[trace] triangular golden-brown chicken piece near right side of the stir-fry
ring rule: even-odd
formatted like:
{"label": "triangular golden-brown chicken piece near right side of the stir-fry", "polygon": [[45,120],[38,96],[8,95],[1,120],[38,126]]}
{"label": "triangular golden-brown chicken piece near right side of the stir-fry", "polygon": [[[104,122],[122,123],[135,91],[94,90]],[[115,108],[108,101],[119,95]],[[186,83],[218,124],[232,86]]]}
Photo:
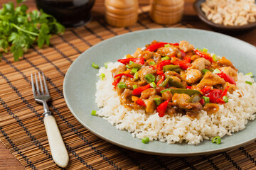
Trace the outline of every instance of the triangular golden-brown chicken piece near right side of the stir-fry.
{"label": "triangular golden-brown chicken piece near right side of the stir-fry", "polygon": [[203,89],[204,86],[215,86],[217,84],[225,84],[225,80],[218,77],[216,74],[213,74],[212,72],[206,72],[200,83],[196,85],[196,88]]}

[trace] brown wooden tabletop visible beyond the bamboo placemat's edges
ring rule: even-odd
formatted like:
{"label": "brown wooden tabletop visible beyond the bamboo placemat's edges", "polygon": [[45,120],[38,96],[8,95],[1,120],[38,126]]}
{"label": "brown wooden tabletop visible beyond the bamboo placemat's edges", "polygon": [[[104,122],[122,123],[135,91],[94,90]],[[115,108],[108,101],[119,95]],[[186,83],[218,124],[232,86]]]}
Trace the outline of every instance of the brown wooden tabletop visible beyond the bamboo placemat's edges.
{"label": "brown wooden tabletop visible beyond the bamboo placemat's edges", "polygon": [[[149,0],[148,0],[149,1]],[[194,0],[186,0],[185,4],[185,12],[184,17],[186,18],[186,23],[191,24],[193,28],[204,29],[204,30],[212,30],[205,23],[202,23],[198,17],[196,16],[195,11],[193,10],[193,1]],[[0,7],[2,4],[7,2],[6,0],[0,0]],[[30,3],[29,3],[30,2]],[[146,0],[140,1],[141,5],[145,5],[147,3]],[[26,2],[29,4],[30,10],[36,8],[31,1]],[[97,3],[96,3],[97,5]],[[102,14],[103,6],[94,6],[92,8],[92,16],[97,13],[97,15]],[[256,29],[247,31],[245,33],[229,33],[229,35],[239,38],[240,40],[244,40],[245,42],[249,42],[252,45],[256,46]],[[9,152],[8,149],[0,142],[0,170],[4,169],[23,169],[23,166],[14,158],[14,156]]]}

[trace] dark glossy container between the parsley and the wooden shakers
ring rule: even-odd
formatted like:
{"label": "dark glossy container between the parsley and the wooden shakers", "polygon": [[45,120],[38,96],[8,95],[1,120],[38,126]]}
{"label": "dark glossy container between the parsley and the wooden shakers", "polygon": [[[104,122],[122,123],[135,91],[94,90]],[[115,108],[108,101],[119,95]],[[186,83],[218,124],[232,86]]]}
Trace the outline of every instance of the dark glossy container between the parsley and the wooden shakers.
{"label": "dark glossy container between the parsley and the wooden shakers", "polygon": [[82,26],[90,21],[95,0],[36,0],[37,8],[53,15],[65,27]]}

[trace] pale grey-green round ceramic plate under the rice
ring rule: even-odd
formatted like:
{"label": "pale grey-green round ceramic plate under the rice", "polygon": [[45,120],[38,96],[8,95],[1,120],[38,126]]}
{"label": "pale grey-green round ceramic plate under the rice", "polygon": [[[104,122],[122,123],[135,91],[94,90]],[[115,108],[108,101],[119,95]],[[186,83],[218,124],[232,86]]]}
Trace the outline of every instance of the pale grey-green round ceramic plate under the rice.
{"label": "pale grey-green round ceramic plate under the rice", "polygon": [[206,47],[210,52],[228,57],[240,72],[256,74],[256,47],[228,35],[188,28],[151,29],[119,35],[102,41],[83,52],[65,75],[63,87],[65,101],[75,118],[85,128],[114,145],[137,152],[166,156],[223,152],[256,139],[255,121],[249,121],[245,130],[234,133],[233,136],[223,137],[221,145],[215,145],[210,141],[203,141],[196,146],[186,143],[168,145],[166,142],[159,141],[145,145],[142,140],[132,137],[129,132],[117,130],[107,120],[91,115],[92,110],[98,110],[95,103],[95,83],[99,79],[96,76],[98,70],[92,68],[92,62],[103,67],[105,62],[115,62],[124,55],[133,53],[137,47],[144,47],[152,40],[165,42],[187,40],[195,47]]}

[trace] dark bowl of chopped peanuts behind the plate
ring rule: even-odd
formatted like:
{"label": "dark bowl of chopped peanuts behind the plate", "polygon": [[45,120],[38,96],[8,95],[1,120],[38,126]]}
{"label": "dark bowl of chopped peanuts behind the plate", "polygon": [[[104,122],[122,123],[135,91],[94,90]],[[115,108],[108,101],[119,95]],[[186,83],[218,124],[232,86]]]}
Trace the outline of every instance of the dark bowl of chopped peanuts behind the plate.
{"label": "dark bowl of chopped peanuts behind the plate", "polygon": [[217,30],[241,31],[256,27],[253,0],[197,0],[193,7],[201,21]]}

